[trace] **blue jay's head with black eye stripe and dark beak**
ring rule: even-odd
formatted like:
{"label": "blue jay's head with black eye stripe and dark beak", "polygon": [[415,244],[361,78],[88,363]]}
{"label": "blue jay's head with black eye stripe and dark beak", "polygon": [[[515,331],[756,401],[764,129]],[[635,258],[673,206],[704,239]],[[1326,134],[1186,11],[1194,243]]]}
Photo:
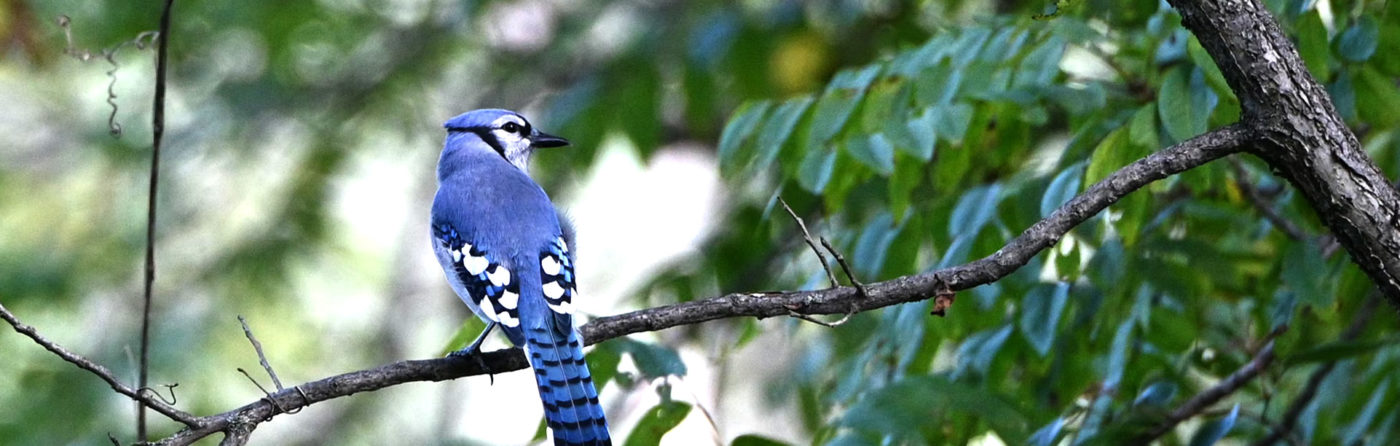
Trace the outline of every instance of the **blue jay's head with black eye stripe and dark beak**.
{"label": "blue jay's head with black eye stripe and dark beak", "polygon": [[525,116],[503,109],[470,110],[449,119],[448,137],[476,134],[496,154],[528,172],[529,155],[536,148],[568,145],[568,140],[536,130]]}

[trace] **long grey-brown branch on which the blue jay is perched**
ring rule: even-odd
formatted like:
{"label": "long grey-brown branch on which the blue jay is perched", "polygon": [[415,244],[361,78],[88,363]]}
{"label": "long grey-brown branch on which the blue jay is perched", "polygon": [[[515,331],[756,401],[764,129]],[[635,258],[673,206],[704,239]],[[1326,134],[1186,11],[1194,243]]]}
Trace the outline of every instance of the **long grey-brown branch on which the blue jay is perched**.
{"label": "long grey-brown branch on which the blue jay is perched", "polygon": [[[958,291],[988,284],[1025,266],[1037,253],[1058,242],[1075,225],[1103,211],[1133,190],[1238,152],[1246,140],[1245,130],[1229,126],[1172,145],[1095,183],[987,257],[918,275],[865,284],[867,295],[864,296],[853,287],[819,291],[738,292],[599,317],[580,327],[580,333],[587,344],[596,344],[633,333],[657,331],[727,317],[752,316],[762,319],[787,316],[790,312],[846,315],[853,308],[855,312],[867,312],[930,299],[939,291]],[[160,440],[158,445],[189,445],[216,432],[245,438],[245,432],[251,432],[258,424],[272,419],[280,411],[295,411],[314,403],[406,382],[440,382],[489,372],[518,371],[526,366],[528,362],[519,348],[486,352],[480,362],[454,357],[393,362],[288,387],[244,407],[199,418],[196,425]]]}

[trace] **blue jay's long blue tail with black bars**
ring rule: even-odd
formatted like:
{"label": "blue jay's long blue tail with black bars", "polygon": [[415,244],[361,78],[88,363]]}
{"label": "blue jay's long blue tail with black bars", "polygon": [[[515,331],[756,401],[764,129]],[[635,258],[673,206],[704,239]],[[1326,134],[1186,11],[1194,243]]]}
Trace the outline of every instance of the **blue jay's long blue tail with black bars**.
{"label": "blue jay's long blue tail with black bars", "polygon": [[612,445],[578,333],[571,329],[552,330],[547,324],[524,331],[525,352],[535,369],[535,383],[545,403],[545,421],[554,432],[554,445]]}

